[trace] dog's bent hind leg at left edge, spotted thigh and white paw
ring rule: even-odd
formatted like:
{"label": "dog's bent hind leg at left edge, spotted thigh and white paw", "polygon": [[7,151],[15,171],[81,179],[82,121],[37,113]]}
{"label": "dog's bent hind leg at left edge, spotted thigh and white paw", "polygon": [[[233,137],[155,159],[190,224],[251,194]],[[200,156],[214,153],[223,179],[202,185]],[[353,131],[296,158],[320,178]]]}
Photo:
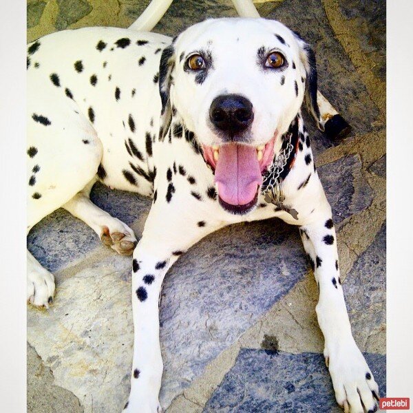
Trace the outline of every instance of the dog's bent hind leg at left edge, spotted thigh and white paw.
{"label": "dog's bent hind leg at left edge, spotted thigh and white paw", "polygon": [[[28,232],[87,186],[96,176],[103,152],[94,127],[72,100],[47,94],[43,86],[28,85],[34,89],[27,105]],[[53,275],[30,253],[27,277],[28,301],[48,306],[54,293]]]}

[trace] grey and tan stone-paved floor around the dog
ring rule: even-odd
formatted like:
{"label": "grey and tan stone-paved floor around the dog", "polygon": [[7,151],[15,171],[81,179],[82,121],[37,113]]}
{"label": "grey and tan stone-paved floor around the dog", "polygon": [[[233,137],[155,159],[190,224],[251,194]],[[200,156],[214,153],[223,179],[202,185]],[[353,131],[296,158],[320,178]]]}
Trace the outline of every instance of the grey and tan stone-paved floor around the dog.
{"label": "grey and tan stone-paved floor around the dog", "polygon": [[[136,0],[28,1],[28,40],[87,25],[127,27]],[[337,224],[354,337],[385,394],[385,3],[257,3],[312,43],[319,88],[352,126],[331,142],[316,131],[315,161]],[[156,31],[176,34],[204,17],[235,16],[229,0],[175,0]],[[96,185],[92,199],[140,234],[150,201]],[[56,275],[50,310],[28,308],[28,411],[119,412],[129,392],[131,259],[100,244],[65,211],[28,237]],[[165,279],[160,310],[168,413],[337,412],[317,286],[296,229],[239,224],[195,245]]]}

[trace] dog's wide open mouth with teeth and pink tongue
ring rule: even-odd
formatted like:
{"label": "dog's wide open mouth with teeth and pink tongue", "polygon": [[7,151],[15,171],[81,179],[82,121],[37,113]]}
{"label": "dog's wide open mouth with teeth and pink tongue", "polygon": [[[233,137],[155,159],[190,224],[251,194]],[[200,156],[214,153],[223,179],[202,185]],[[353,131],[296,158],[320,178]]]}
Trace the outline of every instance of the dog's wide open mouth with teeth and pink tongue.
{"label": "dog's wide open mouth with teeth and pink tongue", "polygon": [[274,157],[275,137],[258,147],[238,143],[202,145],[204,158],[215,171],[218,198],[226,211],[244,214],[257,204],[262,173]]}

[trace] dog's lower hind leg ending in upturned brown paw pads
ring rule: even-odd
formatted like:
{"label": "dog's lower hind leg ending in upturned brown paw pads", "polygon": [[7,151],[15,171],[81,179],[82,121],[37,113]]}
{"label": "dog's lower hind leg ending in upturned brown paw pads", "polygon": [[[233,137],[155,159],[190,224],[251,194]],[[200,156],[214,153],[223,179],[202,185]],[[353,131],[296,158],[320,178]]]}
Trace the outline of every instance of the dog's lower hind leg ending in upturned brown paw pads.
{"label": "dog's lower hind leg ending in upturned brown paw pads", "polygon": [[122,255],[131,255],[137,244],[134,231],[118,218],[97,207],[90,199],[90,191],[96,182],[94,178],[86,187],[63,205],[76,218],[81,219],[100,237],[103,244]]}

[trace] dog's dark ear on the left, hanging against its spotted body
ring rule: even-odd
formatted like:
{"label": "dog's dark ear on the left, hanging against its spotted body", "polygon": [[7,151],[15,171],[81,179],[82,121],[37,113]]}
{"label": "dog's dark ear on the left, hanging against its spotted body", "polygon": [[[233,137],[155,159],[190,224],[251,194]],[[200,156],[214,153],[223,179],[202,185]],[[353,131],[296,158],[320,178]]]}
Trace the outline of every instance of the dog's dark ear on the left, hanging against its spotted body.
{"label": "dog's dark ear on the left, hanging against its spotted body", "polygon": [[162,140],[171,125],[172,109],[171,109],[171,82],[172,71],[175,67],[175,49],[172,45],[163,50],[160,56],[159,63],[159,93],[162,103],[162,111],[160,112],[160,131],[159,138]]}

